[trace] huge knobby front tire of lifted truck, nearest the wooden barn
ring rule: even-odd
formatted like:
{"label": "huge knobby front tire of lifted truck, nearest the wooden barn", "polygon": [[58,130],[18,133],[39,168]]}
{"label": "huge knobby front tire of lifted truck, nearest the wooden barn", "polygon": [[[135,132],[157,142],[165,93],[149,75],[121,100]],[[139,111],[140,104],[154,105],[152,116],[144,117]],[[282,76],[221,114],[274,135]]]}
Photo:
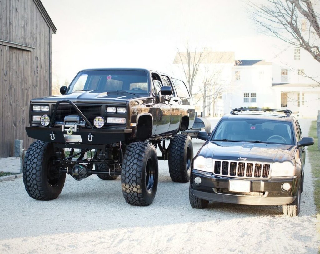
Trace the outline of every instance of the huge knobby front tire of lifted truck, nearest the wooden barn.
{"label": "huge knobby front tire of lifted truck, nearest the wooden barn", "polygon": [[[61,149],[62,156],[64,156]],[[23,164],[23,182],[29,196],[37,200],[57,198],[64,186],[66,173],[59,174],[53,144],[43,141],[33,142],[26,152]]]}

